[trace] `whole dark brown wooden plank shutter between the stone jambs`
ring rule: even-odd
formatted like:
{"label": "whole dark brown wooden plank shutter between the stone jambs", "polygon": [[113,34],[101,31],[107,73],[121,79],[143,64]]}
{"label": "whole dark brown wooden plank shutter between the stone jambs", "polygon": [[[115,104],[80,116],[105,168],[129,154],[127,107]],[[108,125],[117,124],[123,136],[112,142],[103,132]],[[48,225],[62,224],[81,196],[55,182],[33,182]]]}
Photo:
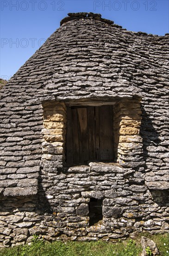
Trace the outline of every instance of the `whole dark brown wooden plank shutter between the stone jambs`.
{"label": "whole dark brown wooden plank shutter between the stone jambs", "polygon": [[113,162],[113,107],[67,108],[67,164]]}

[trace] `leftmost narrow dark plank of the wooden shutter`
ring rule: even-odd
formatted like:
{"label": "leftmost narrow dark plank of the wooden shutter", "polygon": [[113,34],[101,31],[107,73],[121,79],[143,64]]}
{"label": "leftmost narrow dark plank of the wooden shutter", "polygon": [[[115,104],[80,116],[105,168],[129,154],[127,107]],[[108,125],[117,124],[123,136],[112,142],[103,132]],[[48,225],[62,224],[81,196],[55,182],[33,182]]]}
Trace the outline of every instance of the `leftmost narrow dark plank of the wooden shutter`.
{"label": "leftmost narrow dark plank of the wooden shutter", "polygon": [[67,108],[66,162],[73,163],[72,111]]}

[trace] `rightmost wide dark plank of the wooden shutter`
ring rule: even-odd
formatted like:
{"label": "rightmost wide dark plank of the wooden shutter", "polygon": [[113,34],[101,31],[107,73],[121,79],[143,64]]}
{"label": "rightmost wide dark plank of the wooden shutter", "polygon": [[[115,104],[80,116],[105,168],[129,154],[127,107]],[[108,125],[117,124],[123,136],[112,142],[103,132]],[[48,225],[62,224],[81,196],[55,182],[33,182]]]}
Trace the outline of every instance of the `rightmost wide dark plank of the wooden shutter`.
{"label": "rightmost wide dark plank of the wooden shutter", "polygon": [[113,160],[112,106],[99,108],[100,160]]}

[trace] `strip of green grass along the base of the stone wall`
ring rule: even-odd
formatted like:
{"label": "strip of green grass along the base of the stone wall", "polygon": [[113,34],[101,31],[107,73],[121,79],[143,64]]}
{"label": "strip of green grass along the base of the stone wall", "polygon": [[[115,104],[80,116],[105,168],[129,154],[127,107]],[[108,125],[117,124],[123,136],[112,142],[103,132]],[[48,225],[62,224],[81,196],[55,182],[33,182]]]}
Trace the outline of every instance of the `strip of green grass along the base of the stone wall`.
{"label": "strip of green grass along the base of the stone wall", "polygon": [[12,248],[0,249],[0,256],[140,256],[141,235],[152,239],[162,256],[169,256],[169,234],[151,236],[140,234],[135,240],[119,240],[118,243],[98,242],[62,242],[47,243],[34,236],[31,245],[20,245]]}

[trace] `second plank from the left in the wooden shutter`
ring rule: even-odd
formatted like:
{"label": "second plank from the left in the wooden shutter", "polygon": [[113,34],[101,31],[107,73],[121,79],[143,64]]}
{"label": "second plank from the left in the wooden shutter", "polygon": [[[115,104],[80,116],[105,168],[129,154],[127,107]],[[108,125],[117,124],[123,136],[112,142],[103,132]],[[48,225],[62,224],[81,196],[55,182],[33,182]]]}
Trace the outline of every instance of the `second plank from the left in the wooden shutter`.
{"label": "second plank from the left in the wooden shutter", "polygon": [[73,163],[79,164],[79,138],[77,108],[72,108]]}

